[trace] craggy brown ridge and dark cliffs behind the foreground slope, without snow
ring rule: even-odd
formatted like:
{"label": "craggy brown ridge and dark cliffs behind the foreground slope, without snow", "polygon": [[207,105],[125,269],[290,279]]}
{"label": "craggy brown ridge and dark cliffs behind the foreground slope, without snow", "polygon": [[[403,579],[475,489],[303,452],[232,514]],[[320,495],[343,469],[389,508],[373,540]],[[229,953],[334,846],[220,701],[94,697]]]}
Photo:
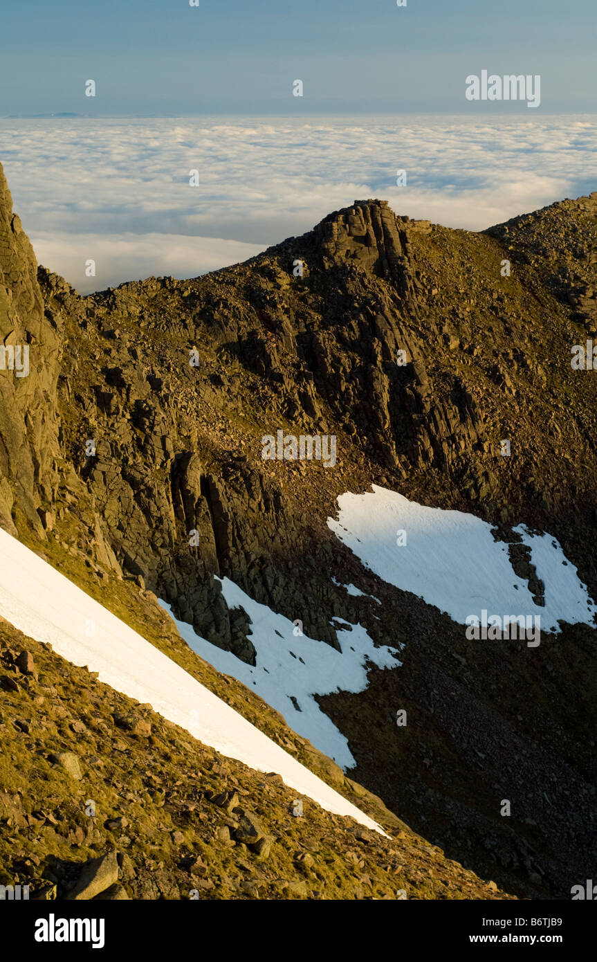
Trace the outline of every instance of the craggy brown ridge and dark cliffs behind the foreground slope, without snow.
{"label": "craggy brown ridge and dark cliffs behind the foreground slope, without snow", "polygon": [[[30,278],[47,350],[26,387],[0,371],[16,392],[0,420],[5,526],[20,512],[39,531],[47,507],[53,539],[99,579],[124,572],[247,662],[248,620],[213,574],[322,643],[338,645],[339,617],[406,644],[401,669],[321,699],[355,776],[453,857],[531,897],[590,877],[594,630],[565,628],[524,663],[501,643],[471,660],[453,621],[363,570],[326,520],[339,494],[376,482],[472,512],[509,543],[524,522],[557,536],[597,595],[597,388],[570,364],[592,331],[596,207],[593,195],[563,201],[472,234],[356,201],[246,264],[88,297],[43,268],[37,288],[25,258],[12,285]],[[7,249],[24,250],[2,222]],[[26,444],[18,418],[37,424]],[[278,430],[335,435],[336,466],[263,460]],[[383,619],[333,576],[368,586]],[[399,742],[396,705],[417,719]],[[508,792],[511,821],[496,801]]]}

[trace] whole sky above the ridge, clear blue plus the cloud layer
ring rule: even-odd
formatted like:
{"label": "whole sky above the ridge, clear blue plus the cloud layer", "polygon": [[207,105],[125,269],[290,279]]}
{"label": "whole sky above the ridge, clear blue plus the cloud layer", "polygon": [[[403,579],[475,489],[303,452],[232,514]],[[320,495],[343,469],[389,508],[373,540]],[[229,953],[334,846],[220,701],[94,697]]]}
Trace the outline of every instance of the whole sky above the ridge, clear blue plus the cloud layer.
{"label": "whole sky above the ridge, clear blue plus the cloud layer", "polygon": [[[595,0],[1,3],[0,163],[82,293],[246,260],[355,199],[482,230],[597,189]],[[538,106],[467,99],[484,70],[540,77]]]}

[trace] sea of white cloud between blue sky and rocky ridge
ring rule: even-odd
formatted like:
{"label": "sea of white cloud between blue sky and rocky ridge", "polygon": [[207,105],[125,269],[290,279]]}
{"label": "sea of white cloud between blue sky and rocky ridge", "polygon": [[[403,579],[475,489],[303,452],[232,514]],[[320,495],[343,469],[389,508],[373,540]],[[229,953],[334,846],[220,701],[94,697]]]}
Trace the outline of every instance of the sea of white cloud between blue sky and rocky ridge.
{"label": "sea of white cloud between blue sky and rocky ridge", "polygon": [[235,264],[356,198],[482,230],[597,189],[597,129],[589,115],[4,119],[0,161],[39,262],[87,292]]}

